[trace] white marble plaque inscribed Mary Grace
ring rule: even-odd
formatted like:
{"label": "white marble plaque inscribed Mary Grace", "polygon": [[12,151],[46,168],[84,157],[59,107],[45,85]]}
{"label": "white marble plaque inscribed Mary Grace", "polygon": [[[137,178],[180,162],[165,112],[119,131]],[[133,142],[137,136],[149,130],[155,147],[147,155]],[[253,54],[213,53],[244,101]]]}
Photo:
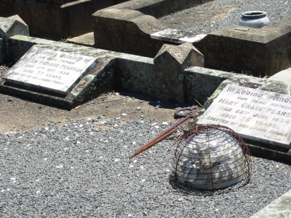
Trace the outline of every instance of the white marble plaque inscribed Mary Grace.
{"label": "white marble plaque inscribed Mary Grace", "polygon": [[289,149],[291,96],[228,84],[197,123],[225,125],[242,138]]}

